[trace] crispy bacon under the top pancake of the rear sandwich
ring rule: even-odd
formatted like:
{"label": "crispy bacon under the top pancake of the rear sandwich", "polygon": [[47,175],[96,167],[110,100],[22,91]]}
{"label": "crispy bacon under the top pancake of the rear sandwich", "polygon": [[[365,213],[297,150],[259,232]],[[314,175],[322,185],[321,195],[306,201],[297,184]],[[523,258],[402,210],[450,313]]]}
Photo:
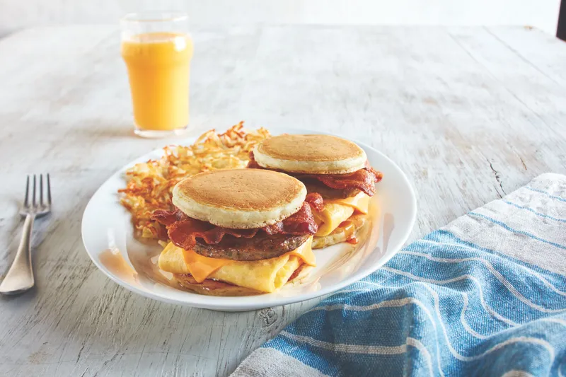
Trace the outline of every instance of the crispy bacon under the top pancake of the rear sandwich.
{"label": "crispy bacon under the top pancake of the rear sandwich", "polygon": [[[248,168],[253,169],[265,169],[255,161],[253,156],[253,151],[250,151],[250,161],[248,162]],[[354,173],[347,174],[304,174],[304,173],[289,173],[294,178],[299,180],[312,178],[323,183],[323,185],[334,189],[350,189],[357,188],[363,191],[366,195],[373,197],[376,193],[375,184],[383,178],[383,173],[375,170],[369,165],[369,161],[366,161],[366,166],[363,169],[354,171]]]}

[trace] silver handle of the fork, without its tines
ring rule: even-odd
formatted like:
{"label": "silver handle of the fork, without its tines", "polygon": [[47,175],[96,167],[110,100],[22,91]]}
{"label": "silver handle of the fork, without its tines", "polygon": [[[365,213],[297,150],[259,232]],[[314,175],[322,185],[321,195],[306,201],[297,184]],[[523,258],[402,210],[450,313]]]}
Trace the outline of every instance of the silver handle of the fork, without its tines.
{"label": "silver handle of the fork, without its tines", "polygon": [[33,230],[34,219],[35,214],[25,216],[18,253],[16,253],[6,277],[0,284],[0,294],[19,294],[27,291],[34,284],[31,267],[31,231]]}

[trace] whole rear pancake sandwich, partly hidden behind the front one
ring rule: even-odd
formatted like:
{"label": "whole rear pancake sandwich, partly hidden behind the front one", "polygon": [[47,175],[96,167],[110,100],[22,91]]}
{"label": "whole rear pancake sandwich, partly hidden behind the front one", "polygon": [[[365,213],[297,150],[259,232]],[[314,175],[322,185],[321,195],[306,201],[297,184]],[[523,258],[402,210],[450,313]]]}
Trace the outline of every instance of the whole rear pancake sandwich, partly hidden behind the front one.
{"label": "whole rear pancake sandwich, partly hidden behind the front one", "polygon": [[318,230],[313,248],[357,243],[369,227],[369,199],[383,175],[369,166],[366,153],[352,141],[331,135],[283,134],[261,141],[250,152],[248,168],[287,173],[306,185],[316,203]]}

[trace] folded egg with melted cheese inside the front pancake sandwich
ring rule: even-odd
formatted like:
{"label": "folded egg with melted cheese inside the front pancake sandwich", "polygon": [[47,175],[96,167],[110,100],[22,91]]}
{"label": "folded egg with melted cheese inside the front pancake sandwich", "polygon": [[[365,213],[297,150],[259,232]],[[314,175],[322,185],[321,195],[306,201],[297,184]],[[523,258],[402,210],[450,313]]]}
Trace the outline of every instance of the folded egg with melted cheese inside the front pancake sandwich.
{"label": "folded egg with melted cheese inside the front pancake sandwich", "polygon": [[304,262],[316,266],[312,250],[313,238],[279,257],[240,261],[204,257],[193,250],[184,250],[169,243],[159,255],[159,268],[173,274],[191,274],[197,282],[216,279],[263,292],[274,292],[287,283],[289,277]]}

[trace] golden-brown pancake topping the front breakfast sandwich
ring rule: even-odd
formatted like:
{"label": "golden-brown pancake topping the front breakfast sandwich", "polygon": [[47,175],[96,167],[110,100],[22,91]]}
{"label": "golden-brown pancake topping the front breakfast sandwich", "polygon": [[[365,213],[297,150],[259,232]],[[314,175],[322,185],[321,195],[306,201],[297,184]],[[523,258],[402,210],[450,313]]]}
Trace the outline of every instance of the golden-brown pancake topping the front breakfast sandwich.
{"label": "golden-brown pancake topping the front breakfast sandwich", "polygon": [[289,175],[261,169],[214,170],[173,188],[173,204],[193,219],[224,228],[272,225],[301,209],[306,187]]}

